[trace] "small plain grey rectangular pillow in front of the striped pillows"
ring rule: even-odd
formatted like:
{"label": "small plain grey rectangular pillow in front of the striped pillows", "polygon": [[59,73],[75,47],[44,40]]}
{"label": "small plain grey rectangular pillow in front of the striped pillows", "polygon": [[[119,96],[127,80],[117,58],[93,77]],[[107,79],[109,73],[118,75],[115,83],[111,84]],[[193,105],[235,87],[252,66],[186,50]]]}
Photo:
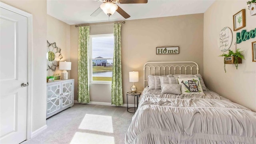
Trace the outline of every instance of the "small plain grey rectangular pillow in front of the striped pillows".
{"label": "small plain grey rectangular pillow in front of the striped pillows", "polygon": [[181,84],[162,84],[163,94],[182,94],[180,91]]}

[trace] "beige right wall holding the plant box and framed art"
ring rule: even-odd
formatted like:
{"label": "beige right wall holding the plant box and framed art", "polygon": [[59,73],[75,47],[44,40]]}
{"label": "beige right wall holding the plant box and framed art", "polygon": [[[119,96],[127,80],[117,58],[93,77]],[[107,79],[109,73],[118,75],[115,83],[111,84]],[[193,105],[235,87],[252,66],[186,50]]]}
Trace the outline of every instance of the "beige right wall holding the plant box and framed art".
{"label": "beige right wall holding the plant box and framed art", "polygon": [[[256,16],[250,16],[246,1],[215,1],[204,13],[204,81],[210,90],[256,111],[256,62],[252,62],[252,38],[237,44],[237,48],[244,50],[245,60],[238,65],[226,64],[224,72],[222,52],[218,48],[220,30],[226,26],[233,32],[232,16],[236,12],[246,9],[246,27],[241,30],[256,28]],[[231,50],[235,50],[236,32],[233,32]]]}

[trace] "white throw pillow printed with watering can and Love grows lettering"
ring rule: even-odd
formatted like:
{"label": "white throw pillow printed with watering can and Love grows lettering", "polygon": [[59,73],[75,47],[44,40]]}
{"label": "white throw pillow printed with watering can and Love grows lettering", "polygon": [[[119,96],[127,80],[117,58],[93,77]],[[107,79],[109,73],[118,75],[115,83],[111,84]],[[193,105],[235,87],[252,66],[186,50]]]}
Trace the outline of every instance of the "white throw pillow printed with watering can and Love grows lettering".
{"label": "white throw pillow printed with watering can and Love grows lettering", "polygon": [[182,94],[205,95],[199,78],[178,78]]}

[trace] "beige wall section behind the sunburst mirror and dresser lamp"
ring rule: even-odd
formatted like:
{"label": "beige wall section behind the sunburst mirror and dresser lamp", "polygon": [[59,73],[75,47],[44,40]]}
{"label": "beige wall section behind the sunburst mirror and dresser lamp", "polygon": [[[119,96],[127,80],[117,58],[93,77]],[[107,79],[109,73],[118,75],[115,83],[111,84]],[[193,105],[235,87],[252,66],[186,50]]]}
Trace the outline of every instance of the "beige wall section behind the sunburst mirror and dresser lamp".
{"label": "beige wall section behind the sunburst mirror and dresser lamp", "polygon": [[[70,61],[70,25],[52,16],[47,15],[47,40],[50,43],[56,42],[56,46],[61,48],[60,53],[63,58],[60,61]],[[50,70],[50,76],[61,74],[62,70],[56,68],[55,72]],[[48,75],[48,74],[47,74]]]}

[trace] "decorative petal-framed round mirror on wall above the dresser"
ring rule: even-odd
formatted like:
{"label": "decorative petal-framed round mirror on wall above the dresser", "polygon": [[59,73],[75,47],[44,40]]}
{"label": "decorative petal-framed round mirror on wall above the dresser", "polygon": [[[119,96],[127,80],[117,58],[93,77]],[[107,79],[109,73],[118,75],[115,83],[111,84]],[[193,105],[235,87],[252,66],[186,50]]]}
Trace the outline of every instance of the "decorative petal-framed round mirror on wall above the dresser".
{"label": "decorative petal-framed round mirror on wall above the dresser", "polygon": [[50,43],[47,40],[47,50],[48,52],[46,53],[46,59],[47,59],[47,71],[50,70],[55,71],[56,67],[58,66],[58,61],[60,61],[63,56],[61,55],[60,51],[61,48],[58,48],[56,46],[56,42]]}

